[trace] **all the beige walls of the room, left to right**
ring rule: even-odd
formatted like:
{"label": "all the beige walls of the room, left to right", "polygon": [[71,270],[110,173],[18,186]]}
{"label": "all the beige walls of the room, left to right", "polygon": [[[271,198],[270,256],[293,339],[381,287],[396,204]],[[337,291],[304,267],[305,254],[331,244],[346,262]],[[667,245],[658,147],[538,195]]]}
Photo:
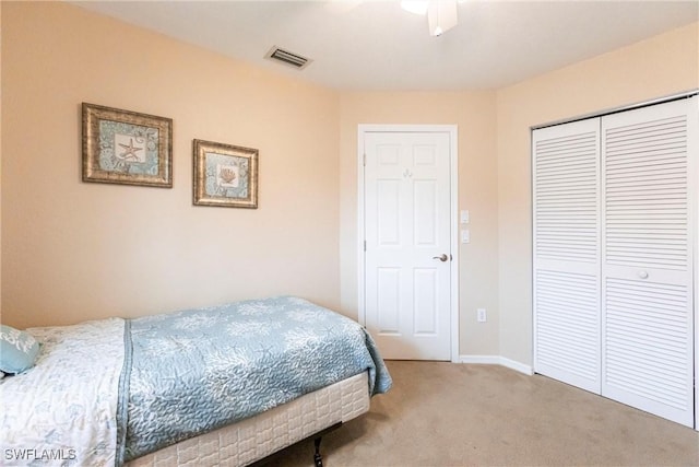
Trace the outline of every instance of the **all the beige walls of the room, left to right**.
{"label": "all the beige walls of the room, left to right", "polygon": [[[530,364],[530,127],[699,87],[698,24],[498,91],[343,93],[64,3],[2,13],[0,306],[19,327],[277,293],[356,317],[357,125],[449,124],[472,219],[460,353]],[[173,118],[174,188],[82,183],[81,102]],[[191,205],[193,138],[260,150],[260,209]]]}

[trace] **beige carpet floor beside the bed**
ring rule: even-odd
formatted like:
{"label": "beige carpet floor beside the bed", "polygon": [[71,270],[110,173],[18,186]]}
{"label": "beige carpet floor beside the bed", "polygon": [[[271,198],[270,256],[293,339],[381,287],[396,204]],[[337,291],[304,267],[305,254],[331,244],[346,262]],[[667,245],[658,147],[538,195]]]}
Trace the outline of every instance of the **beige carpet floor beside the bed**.
{"label": "beige carpet floor beside the bed", "polygon": [[[699,466],[699,432],[501,366],[389,361],[393,388],[325,435],[325,467]],[[274,466],[312,466],[312,441]]]}

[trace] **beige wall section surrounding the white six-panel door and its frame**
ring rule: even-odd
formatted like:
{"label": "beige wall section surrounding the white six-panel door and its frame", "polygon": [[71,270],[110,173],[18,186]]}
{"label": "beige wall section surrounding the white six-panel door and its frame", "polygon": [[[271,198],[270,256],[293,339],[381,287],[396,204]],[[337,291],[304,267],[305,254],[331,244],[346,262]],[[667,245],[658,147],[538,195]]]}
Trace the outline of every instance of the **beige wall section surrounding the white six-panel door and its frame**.
{"label": "beige wall section surrounding the white six-panel door and its frame", "polygon": [[[343,93],[341,97],[341,291],[345,313],[357,310],[357,125],[459,127],[459,209],[471,211],[471,243],[460,248],[460,353],[497,354],[497,159],[495,93]],[[476,308],[488,311],[476,323]]]}

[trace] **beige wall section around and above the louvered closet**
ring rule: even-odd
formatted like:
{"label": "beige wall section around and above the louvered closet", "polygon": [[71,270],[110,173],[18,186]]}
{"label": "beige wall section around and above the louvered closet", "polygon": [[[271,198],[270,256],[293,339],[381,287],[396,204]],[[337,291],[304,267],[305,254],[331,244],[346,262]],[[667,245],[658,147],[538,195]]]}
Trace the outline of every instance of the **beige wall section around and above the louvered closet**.
{"label": "beige wall section around and above the louvered closet", "polygon": [[532,362],[530,127],[699,87],[699,23],[497,93],[502,357]]}

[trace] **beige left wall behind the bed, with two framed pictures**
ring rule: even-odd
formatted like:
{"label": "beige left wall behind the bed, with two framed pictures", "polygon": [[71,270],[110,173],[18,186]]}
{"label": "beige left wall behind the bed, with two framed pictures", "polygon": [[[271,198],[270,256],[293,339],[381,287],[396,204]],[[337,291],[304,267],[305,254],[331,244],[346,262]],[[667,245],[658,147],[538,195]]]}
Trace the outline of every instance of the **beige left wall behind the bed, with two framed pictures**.
{"label": "beige left wall behind the bed, with two framed pictures", "polygon": [[[2,8],[3,323],[339,307],[335,92],[62,2]],[[173,118],[174,188],[82,183],[81,102]],[[194,138],[259,149],[259,209],[192,206]]]}

